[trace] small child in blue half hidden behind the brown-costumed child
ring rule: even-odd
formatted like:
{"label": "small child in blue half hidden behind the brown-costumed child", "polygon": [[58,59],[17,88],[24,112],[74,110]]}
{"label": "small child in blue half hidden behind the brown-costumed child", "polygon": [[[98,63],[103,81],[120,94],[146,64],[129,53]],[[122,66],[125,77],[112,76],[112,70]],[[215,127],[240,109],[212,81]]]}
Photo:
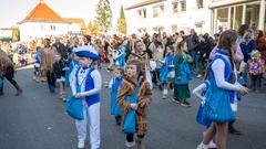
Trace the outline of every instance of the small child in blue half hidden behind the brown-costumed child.
{"label": "small child in blue half hidden behind the brown-costumed child", "polygon": [[110,111],[111,111],[111,115],[115,116],[116,125],[120,126],[121,118],[122,118],[122,110],[121,110],[120,106],[117,105],[117,93],[119,93],[119,88],[123,82],[124,71],[123,71],[123,68],[114,68],[113,73],[114,73],[114,77],[111,79],[111,82],[109,84],[109,88],[111,88]]}

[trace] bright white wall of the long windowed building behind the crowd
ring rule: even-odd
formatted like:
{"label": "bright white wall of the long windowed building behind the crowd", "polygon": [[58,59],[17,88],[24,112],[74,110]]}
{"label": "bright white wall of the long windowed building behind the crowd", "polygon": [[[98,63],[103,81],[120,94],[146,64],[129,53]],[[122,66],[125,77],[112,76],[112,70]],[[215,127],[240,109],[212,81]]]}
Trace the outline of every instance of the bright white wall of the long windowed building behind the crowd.
{"label": "bright white wall of the long windowed building behind the crowd", "polygon": [[[125,11],[127,21],[127,33],[140,33],[139,29],[146,29],[146,32],[152,34],[155,26],[163,26],[164,31],[172,33],[172,25],[177,25],[177,30],[188,31],[190,29],[196,29],[195,23],[203,22],[198,33],[206,33],[211,31],[211,10],[208,9],[208,2],[204,1],[204,9],[196,9],[196,0],[186,1],[186,11],[173,13],[172,0],[158,2],[155,4],[144,6],[136,9]],[[164,3],[164,13],[158,18],[153,18],[153,7]],[[137,10],[146,9],[146,18],[140,18]]]}

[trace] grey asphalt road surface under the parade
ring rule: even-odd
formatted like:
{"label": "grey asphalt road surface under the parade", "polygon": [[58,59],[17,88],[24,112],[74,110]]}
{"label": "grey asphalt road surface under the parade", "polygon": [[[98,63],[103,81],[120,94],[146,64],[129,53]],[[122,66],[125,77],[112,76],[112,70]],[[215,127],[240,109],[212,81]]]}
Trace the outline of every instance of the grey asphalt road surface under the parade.
{"label": "grey asphalt road surface under the parade", "polygon": [[[74,120],[64,111],[59,95],[51,95],[45,83],[32,81],[32,68],[20,70],[16,79],[24,93],[13,96],[14,88],[6,81],[4,96],[0,96],[0,149],[75,149]],[[110,74],[101,70],[104,82]],[[200,84],[191,83],[191,88]],[[101,93],[101,148],[124,149],[124,134],[109,113],[110,91]],[[181,107],[162,92],[153,91],[150,107],[146,149],[195,149],[202,140],[204,127],[196,124],[198,100],[192,97],[191,108]],[[266,92],[249,93],[239,104],[236,128],[243,135],[228,135],[228,149],[266,149]],[[89,141],[88,141],[89,142]],[[89,143],[86,143],[89,149]]]}

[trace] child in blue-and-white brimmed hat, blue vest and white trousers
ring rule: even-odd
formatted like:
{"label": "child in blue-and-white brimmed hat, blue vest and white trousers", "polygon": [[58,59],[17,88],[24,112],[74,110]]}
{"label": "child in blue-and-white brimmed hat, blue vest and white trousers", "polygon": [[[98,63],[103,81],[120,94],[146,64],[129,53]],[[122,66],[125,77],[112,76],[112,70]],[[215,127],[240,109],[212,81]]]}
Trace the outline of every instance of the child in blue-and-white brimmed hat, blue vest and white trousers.
{"label": "child in blue-and-white brimmed hat, blue vest and white trousers", "polygon": [[[79,56],[80,68],[73,77],[71,89],[76,98],[83,98],[83,120],[75,120],[78,129],[78,148],[84,148],[86,139],[86,124],[90,128],[91,149],[100,148],[100,91],[102,77],[92,63],[100,58],[98,52],[92,46],[80,46],[74,50]],[[80,86],[80,93],[76,87]]]}

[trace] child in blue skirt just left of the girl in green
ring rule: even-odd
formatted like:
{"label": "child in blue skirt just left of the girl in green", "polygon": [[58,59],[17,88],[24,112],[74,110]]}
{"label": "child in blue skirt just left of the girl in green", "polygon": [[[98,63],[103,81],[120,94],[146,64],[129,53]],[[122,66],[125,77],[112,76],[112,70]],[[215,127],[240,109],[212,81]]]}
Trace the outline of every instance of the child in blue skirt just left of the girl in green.
{"label": "child in blue skirt just left of the girl in green", "polygon": [[164,66],[161,70],[160,78],[164,85],[163,99],[167,98],[170,83],[173,82],[175,76],[174,71],[174,46],[170,45],[166,47],[166,56],[164,58]]}

